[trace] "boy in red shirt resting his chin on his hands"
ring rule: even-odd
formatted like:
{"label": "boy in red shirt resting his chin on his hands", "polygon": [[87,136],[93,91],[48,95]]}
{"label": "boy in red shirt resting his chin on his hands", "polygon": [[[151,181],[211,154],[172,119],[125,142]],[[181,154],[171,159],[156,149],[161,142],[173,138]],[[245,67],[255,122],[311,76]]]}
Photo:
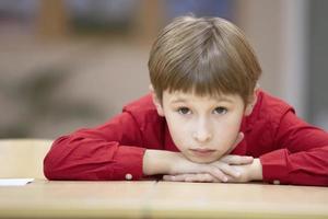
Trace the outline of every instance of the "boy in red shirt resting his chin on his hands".
{"label": "boy in red shirt resting his chin on his hands", "polygon": [[54,142],[46,177],[328,185],[328,134],[257,88],[260,66],[232,23],[174,20],[149,71],[151,94]]}

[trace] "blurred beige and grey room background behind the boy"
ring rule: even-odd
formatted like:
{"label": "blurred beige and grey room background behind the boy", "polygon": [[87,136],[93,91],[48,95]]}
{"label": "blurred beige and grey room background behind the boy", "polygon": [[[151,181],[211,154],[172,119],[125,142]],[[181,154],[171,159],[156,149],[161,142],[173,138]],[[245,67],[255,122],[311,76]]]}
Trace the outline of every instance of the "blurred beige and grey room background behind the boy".
{"label": "blurred beige and grey room background behind the boy", "polygon": [[154,37],[190,12],[244,30],[261,88],[327,130],[327,9],[325,0],[1,0],[0,138],[105,123],[148,92]]}

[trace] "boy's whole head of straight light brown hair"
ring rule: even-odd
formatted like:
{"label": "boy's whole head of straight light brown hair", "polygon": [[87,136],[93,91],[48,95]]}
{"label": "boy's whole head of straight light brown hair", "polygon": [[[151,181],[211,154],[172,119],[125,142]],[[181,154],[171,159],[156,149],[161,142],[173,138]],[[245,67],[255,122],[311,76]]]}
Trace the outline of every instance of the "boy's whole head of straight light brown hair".
{"label": "boy's whole head of straight light brown hair", "polygon": [[261,68],[244,34],[231,22],[180,16],[154,42],[149,71],[160,101],[167,90],[197,95],[238,94],[246,105]]}

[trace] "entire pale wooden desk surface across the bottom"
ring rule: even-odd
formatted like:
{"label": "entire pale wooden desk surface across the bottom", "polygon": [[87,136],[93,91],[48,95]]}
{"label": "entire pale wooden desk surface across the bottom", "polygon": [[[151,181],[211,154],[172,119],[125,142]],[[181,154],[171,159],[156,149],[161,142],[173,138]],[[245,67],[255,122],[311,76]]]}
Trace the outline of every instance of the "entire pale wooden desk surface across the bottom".
{"label": "entire pale wooden desk surface across the bottom", "polygon": [[48,182],[0,187],[0,218],[328,218],[328,188],[265,184]]}

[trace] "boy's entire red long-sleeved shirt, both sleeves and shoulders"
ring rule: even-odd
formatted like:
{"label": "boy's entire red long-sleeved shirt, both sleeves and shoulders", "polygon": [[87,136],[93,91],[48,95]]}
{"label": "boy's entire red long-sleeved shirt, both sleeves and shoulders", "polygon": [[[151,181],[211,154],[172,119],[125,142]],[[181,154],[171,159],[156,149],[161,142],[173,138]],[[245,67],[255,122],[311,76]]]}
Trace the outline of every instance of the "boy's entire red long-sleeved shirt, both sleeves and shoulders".
{"label": "boy's entire red long-sleeved shirt, both sleeves and shoulders", "polygon": [[[300,119],[283,101],[259,91],[241,131],[245,138],[232,153],[259,158],[265,182],[328,185],[327,131]],[[145,149],[178,151],[150,94],[99,127],[58,138],[44,172],[49,180],[140,180]]]}

